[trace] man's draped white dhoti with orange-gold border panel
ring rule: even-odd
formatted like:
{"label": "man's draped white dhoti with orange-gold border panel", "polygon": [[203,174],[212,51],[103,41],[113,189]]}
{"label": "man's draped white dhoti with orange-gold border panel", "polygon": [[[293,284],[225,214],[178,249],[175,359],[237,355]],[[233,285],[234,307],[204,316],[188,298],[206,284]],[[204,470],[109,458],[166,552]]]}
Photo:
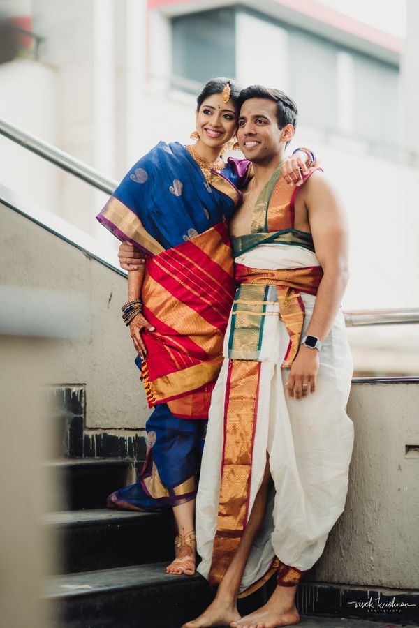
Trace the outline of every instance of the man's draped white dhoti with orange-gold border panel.
{"label": "man's draped white dhoti with orange-gold border panel", "polygon": [[[284,242],[237,253],[236,262],[245,267],[244,276],[286,271],[297,279],[301,269],[319,267],[309,247]],[[304,310],[300,334],[305,334],[316,297],[300,292],[298,298]],[[296,402],[286,394],[289,371],[282,366],[291,341],[287,315],[278,285],[240,285],[212,394],[196,507],[203,558],[198,571],[212,585],[221,581],[240,544],[267,454],[274,481],[242,596],[263,585],[279,565],[310,569],[346,500],[353,425],[346,414],[352,360],[344,319],[337,315],[323,343],[315,394]]]}

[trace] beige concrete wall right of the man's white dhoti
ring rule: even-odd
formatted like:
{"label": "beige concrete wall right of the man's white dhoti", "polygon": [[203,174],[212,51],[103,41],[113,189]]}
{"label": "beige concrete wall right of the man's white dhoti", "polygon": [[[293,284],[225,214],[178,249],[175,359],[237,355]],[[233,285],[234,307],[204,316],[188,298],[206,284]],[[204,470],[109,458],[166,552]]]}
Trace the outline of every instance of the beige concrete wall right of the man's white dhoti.
{"label": "beige concrete wall right of the man's white dhoti", "polygon": [[419,589],[418,403],[418,380],[353,384],[348,500],[311,580]]}

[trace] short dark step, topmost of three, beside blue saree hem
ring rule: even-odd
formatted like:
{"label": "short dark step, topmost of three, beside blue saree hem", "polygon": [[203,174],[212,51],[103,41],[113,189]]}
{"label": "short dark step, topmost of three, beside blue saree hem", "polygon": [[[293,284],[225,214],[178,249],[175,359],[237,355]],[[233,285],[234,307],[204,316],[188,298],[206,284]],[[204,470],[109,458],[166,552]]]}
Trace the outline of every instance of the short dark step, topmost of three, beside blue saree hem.
{"label": "short dark step, topmost of three, beside blue saree hem", "polygon": [[51,461],[47,472],[54,474],[63,493],[59,507],[68,510],[103,508],[106,498],[117,488],[125,486],[130,461],[80,458]]}

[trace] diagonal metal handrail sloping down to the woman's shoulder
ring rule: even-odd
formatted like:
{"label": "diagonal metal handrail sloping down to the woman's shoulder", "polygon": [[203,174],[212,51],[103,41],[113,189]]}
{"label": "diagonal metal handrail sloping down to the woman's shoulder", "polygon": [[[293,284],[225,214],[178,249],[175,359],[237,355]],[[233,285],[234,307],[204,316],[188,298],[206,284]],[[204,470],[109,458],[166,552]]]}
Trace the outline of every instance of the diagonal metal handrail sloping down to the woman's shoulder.
{"label": "diagonal metal handrail sloping down to the woman's shoulder", "polygon": [[6,120],[0,119],[0,133],[1,135],[8,137],[8,139],[12,140],[12,142],[16,142],[17,144],[20,144],[20,146],[32,151],[43,159],[54,163],[62,168],[62,170],[71,172],[71,174],[74,174],[75,177],[86,181],[86,183],[98,188],[98,190],[102,190],[102,192],[112,194],[117,187],[117,181],[112,181],[112,179],[103,177],[102,174],[100,174],[97,170],[94,170],[94,168],[91,168],[82,161],[68,155],[68,153],[60,151],[51,144],[47,144],[47,142],[39,140],[38,137],[26,133],[26,131],[17,128],[17,126],[9,124]]}

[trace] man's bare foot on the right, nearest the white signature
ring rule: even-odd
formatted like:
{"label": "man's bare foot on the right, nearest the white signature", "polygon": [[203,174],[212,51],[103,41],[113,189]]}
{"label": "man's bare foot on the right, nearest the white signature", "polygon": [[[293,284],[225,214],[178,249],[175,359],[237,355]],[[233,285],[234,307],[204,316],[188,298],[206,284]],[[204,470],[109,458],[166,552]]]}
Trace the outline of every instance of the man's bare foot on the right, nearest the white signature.
{"label": "man's bare foot on the right, nearest the white signature", "polygon": [[297,587],[277,587],[267,604],[241,620],[231,622],[231,628],[278,628],[291,626],[300,621],[295,606]]}

